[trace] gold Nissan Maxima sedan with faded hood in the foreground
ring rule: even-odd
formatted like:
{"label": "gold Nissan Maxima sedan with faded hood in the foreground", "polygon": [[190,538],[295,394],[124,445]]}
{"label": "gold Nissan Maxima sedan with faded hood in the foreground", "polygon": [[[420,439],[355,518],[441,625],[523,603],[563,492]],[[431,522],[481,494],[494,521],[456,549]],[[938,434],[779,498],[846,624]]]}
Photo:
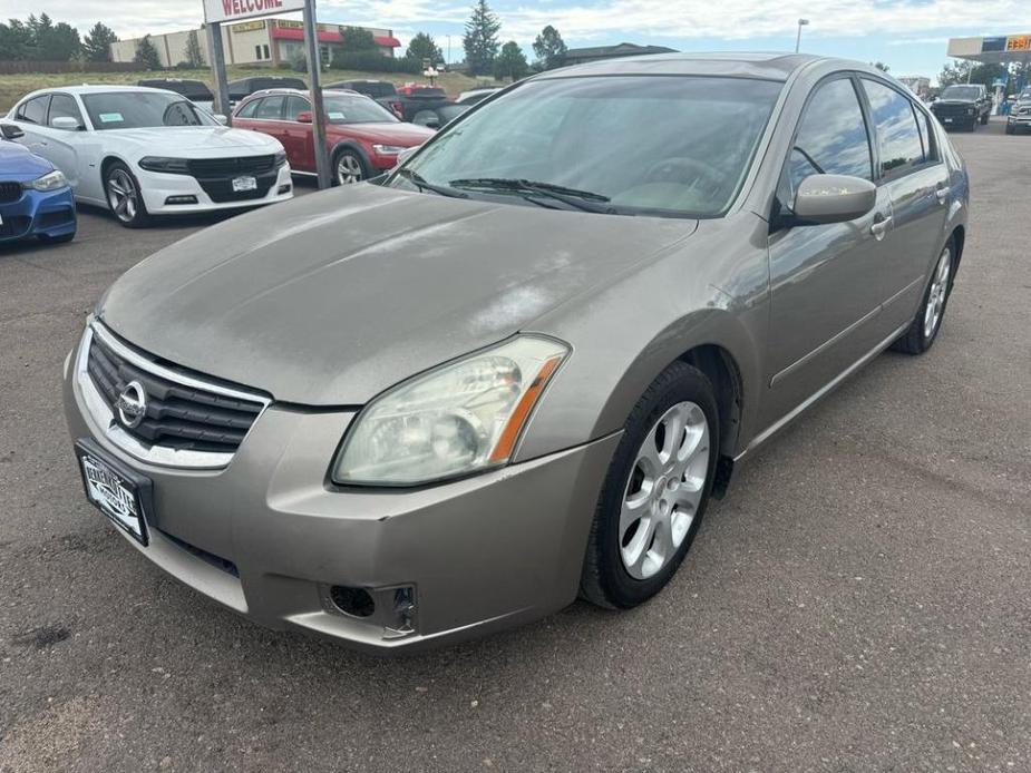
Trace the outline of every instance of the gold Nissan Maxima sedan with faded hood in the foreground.
{"label": "gold Nissan Maxima sedan with faded hood in the foreground", "polygon": [[737,462],[931,348],[967,202],[858,62],[545,72],[119,278],[65,369],[86,496],[200,593],[369,649],[633,607]]}

